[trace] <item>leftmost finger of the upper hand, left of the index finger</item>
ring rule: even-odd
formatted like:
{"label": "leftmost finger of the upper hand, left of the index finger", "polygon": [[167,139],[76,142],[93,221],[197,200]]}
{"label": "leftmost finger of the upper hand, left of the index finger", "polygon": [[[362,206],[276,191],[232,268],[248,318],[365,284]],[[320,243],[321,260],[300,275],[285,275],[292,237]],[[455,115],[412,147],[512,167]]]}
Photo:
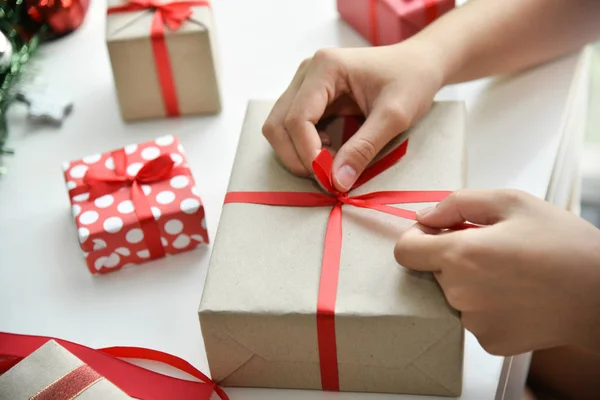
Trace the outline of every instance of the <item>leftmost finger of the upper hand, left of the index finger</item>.
{"label": "leftmost finger of the upper hand, left of the index finger", "polygon": [[310,170],[307,170],[300,161],[300,156],[296,151],[294,142],[290,138],[287,130],[285,129],[284,120],[287,115],[290,105],[292,104],[298,89],[304,81],[306,69],[310,60],[304,60],[294,78],[290,82],[287,89],[279,97],[269,116],[265,120],[262,131],[263,135],[273,147],[273,150],[277,154],[280,161],[295,175],[309,176],[311,175]]}

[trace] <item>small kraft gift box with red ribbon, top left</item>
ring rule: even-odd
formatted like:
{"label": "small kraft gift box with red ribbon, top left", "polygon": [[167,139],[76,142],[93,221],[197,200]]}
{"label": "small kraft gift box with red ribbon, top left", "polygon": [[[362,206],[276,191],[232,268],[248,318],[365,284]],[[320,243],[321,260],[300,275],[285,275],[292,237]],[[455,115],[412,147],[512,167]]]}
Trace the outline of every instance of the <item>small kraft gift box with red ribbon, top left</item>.
{"label": "small kraft gift box with red ribbon, top left", "polygon": [[124,120],[221,110],[209,1],[109,0],[106,43]]}

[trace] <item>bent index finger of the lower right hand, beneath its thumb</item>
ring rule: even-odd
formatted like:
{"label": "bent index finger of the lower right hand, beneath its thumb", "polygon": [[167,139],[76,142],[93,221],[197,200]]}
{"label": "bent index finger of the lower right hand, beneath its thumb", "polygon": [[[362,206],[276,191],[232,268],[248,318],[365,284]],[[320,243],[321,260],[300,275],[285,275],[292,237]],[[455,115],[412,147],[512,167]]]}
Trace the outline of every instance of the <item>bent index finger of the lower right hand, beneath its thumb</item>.
{"label": "bent index finger of the lower right hand, beneath its thumb", "polygon": [[416,271],[440,272],[439,257],[449,246],[446,235],[439,230],[415,224],[406,230],[394,247],[394,257],[398,264]]}

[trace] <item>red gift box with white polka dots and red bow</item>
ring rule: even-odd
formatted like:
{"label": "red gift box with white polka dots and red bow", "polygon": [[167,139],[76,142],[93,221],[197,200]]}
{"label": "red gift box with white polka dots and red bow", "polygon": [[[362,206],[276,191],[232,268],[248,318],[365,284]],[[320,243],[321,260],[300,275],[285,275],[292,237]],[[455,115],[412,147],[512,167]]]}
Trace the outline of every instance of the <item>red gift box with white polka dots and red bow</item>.
{"label": "red gift box with white polka dots and red bow", "polygon": [[63,169],[91,273],[208,243],[204,207],[177,137],[65,162]]}

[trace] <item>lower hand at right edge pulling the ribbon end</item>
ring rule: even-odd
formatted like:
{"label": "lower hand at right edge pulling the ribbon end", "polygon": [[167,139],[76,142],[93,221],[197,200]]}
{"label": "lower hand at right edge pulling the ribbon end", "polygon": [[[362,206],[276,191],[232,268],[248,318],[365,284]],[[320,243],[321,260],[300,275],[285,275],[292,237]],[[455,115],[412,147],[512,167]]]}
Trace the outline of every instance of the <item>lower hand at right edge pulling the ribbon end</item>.
{"label": "lower hand at right edge pulling the ribbon end", "polygon": [[[486,226],[440,231],[464,221]],[[458,191],[418,214],[395,256],[435,274],[492,354],[600,350],[600,230],[567,211],[519,191]]]}

